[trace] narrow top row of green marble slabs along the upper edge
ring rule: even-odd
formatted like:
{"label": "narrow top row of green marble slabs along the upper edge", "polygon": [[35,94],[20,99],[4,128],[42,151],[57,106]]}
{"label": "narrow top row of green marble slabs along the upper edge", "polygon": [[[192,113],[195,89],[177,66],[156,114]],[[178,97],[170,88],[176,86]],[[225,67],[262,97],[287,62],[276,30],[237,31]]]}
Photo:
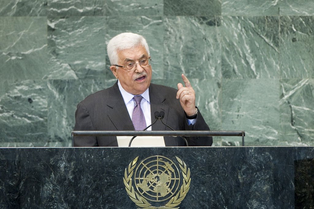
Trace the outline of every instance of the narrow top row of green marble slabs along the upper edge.
{"label": "narrow top row of green marble slabs along the upper edge", "polygon": [[2,0],[0,16],[313,15],[312,0]]}

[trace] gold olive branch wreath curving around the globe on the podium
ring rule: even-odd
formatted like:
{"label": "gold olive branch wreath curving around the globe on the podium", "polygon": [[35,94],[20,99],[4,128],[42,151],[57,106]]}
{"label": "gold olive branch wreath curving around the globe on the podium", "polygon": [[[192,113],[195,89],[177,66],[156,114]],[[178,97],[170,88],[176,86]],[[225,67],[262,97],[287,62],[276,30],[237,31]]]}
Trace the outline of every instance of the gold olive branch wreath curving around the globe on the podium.
{"label": "gold olive branch wreath curving around the globe on the podium", "polygon": [[176,194],[176,196],[173,196],[165,206],[161,207],[154,207],[152,206],[144,197],[141,197],[135,190],[134,187],[132,186],[132,175],[133,175],[133,170],[136,166],[136,162],[138,160],[137,156],[132,162],[130,162],[129,166],[127,169],[124,171],[124,177],[123,177],[123,182],[125,185],[125,190],[127,191],[127,195],[130,197],[130,199],[139,207],[144,208],[144,209],[178,209],[178,206],[181,201],[185,198],[187,195],[187,192],[190,190],[190,184],[191,184],[191,176],[190,176],[190,169],[187,168],[187,165],[185,162],[183,162],[180,158],[176,156],[176,159],[179,163],[180,169],[182,171],[182,176],[183,176],[183,185],[181,186],[180,191]]}

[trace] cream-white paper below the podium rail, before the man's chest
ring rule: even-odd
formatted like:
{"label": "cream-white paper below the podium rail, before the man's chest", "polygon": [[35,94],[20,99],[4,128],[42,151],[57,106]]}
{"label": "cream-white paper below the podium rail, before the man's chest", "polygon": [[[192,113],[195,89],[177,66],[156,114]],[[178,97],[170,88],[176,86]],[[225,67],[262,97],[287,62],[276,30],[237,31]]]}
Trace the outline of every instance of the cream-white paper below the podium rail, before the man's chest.
{"label": "cream-white paper below the podium rail, before the man's chest", "polygon": [[[117,136],[119,147],[128,147],[132,136]],[[163,136],[137,136],[131,147],[165,147]]]}

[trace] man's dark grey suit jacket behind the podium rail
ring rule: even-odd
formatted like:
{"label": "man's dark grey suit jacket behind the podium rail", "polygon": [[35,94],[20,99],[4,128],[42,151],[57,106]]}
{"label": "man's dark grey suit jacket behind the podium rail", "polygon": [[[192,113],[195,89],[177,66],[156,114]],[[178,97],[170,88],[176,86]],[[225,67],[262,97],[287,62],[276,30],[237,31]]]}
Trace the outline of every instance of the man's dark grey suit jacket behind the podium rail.
{"label": "man's dark grey suit jacket behind the podium rail", "polygon": [[[187,124],[185,112],[179,99],[177,90],[171,87],[150,84],[149,99],[152,123],[154,112],[165,112],[164,123],[175,130],[209,130],[201,113],[198,112],[197,122],[193,126]],[[98,91],[78,103],[75,112],[74,130],[116,131],[134,130],[132,120],[118,87],[118,83],[108,89]],[[169,130],[161,121],[157,121],[152,130]],[[179,137],[164,137],[166,146],[185,146]],[[212,137],[187,137],[189,146],[211,146]],[[117,147],[118,142],[113,137],[74,137],[75,147]]]}

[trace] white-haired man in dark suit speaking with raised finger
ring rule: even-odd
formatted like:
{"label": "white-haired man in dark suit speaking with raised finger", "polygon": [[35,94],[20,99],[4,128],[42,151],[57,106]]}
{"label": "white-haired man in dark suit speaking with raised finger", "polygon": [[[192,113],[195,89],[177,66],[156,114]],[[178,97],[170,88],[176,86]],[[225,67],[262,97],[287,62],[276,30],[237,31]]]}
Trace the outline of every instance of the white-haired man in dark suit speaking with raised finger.
{"label": "white-haired man in dark suit speaking with raised finger", "polygon": [[[153,58],[143,36],[122,33],[107,45],[110,70],[117,78],[108,89],[86,97],[77,106],[74,130],[116,131],[143,130],[154,120],[154,112],[165,112],[163,122],[174,130],[209,130],[201,112],[195,106],[195,91],[183,74],[184,86],[178,90],[150,83]],[[147,130],[168,130],[155,123]],[[164,137],[165,146],[185,146],[180,137]],[[189,146],[211,146],[212,137],[187,137]],[[76,137],[74,146],[116,147],[111,137]]]}

